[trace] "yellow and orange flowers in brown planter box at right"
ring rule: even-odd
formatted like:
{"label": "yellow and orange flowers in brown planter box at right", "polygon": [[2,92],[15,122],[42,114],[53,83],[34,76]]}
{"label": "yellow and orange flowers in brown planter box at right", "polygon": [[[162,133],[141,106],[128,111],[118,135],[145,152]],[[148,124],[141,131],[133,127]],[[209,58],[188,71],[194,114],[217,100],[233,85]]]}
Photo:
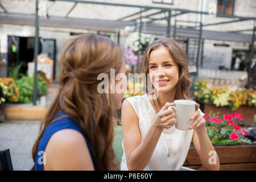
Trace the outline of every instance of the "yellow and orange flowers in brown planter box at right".
{"label": "yellow and orange flowers in brown planter box at right", "polygon": [[203,112],[243,115],[243,122],[253,122],[256,106],[256,91],[245,88],[216,87],[209,88],[204,80],[197,80],[193,85],[193,96],[199,102]]}

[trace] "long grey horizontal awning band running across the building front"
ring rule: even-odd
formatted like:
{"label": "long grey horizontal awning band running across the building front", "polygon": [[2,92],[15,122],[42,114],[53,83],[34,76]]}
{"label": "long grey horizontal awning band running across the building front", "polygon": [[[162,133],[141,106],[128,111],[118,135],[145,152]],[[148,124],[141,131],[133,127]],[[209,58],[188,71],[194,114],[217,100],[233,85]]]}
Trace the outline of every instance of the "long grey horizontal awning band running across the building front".
{"label": "long grey horizontal awning band running across the building front", "polygon": [[[35,26],[35,15],[27,14],[11,14],[0,13],[0,23],[19,24]],[[92,20],[81,18],[66,18],[66,17],[40,17],[40,26],[44,27],[61,27],[61,28],[80,28],[86,30],[98,30],[105,32],[118,32],[120,28],[126,26],[134,26],[134,22],[124,22],[121,20]],[[174,26],[170,26],[174,30]],[[164,25],[147,23],[143,24],[142,32],[146,34],[165,35],[167,28]],[[176,27],[176,36],[183,38],[199,38],[199,31],[192,28]],[[174,34],[171,31],[170,35]],[[222,40],[230,42],[250,43],[253,35],[239,34],[237,32],[221,32],[221,31],[202,31],[201,39]]]}

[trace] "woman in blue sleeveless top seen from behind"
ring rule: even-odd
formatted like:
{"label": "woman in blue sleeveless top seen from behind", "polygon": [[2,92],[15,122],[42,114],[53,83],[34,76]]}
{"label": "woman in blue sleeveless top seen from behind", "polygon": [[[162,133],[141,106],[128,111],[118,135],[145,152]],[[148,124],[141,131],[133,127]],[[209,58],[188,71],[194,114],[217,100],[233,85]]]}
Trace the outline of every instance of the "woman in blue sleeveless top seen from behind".
{"label": "woman in blue sleeveless top seen from behind", "polygon": [[[85,34],[65,42],[59,61],[60,88],[32,148],[32,169],[118,169],[112,117],[123,93],[99,93],[98,75],[126,73],[121,49],[106,36]],[[126,88],[126,77],[120,81]]]}

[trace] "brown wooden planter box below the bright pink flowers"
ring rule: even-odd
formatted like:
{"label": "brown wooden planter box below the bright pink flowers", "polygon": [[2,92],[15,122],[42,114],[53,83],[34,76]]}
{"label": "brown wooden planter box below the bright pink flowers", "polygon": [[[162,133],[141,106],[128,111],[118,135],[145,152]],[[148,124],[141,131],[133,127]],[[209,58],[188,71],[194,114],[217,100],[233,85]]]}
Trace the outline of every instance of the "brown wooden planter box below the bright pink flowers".
{"label": "brown wooden planter box below the bright pink flowers", "polygon": [[[238,146],[214,146],[220,160],[221,171],[256,170],[256,144]],[[197,155],[196,148],[190,147],[183,166],[205,170]]]}

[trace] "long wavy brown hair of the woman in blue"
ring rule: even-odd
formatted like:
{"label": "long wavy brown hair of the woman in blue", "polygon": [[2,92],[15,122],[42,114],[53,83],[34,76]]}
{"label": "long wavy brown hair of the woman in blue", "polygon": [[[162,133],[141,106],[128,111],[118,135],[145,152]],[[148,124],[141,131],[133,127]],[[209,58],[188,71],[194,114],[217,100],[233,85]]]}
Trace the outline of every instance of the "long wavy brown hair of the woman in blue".
{"label": "long wavy brown hair of the woman in blue", "polygon": [[[114,105],[107,93],[98,93],[100,73],[110,77],[110,68],[119,72],[123,61],[118,45],[106,36],[84,34],[64,43],[59,57],[59,92],[40,125],[32,158],[46,128],[64,110],[80,127],[92,147],[97,169],[118,169],[113,151]],[[63,117],[62,117],[63,118]],[[31,169],[34,169],[32,167]]]}

